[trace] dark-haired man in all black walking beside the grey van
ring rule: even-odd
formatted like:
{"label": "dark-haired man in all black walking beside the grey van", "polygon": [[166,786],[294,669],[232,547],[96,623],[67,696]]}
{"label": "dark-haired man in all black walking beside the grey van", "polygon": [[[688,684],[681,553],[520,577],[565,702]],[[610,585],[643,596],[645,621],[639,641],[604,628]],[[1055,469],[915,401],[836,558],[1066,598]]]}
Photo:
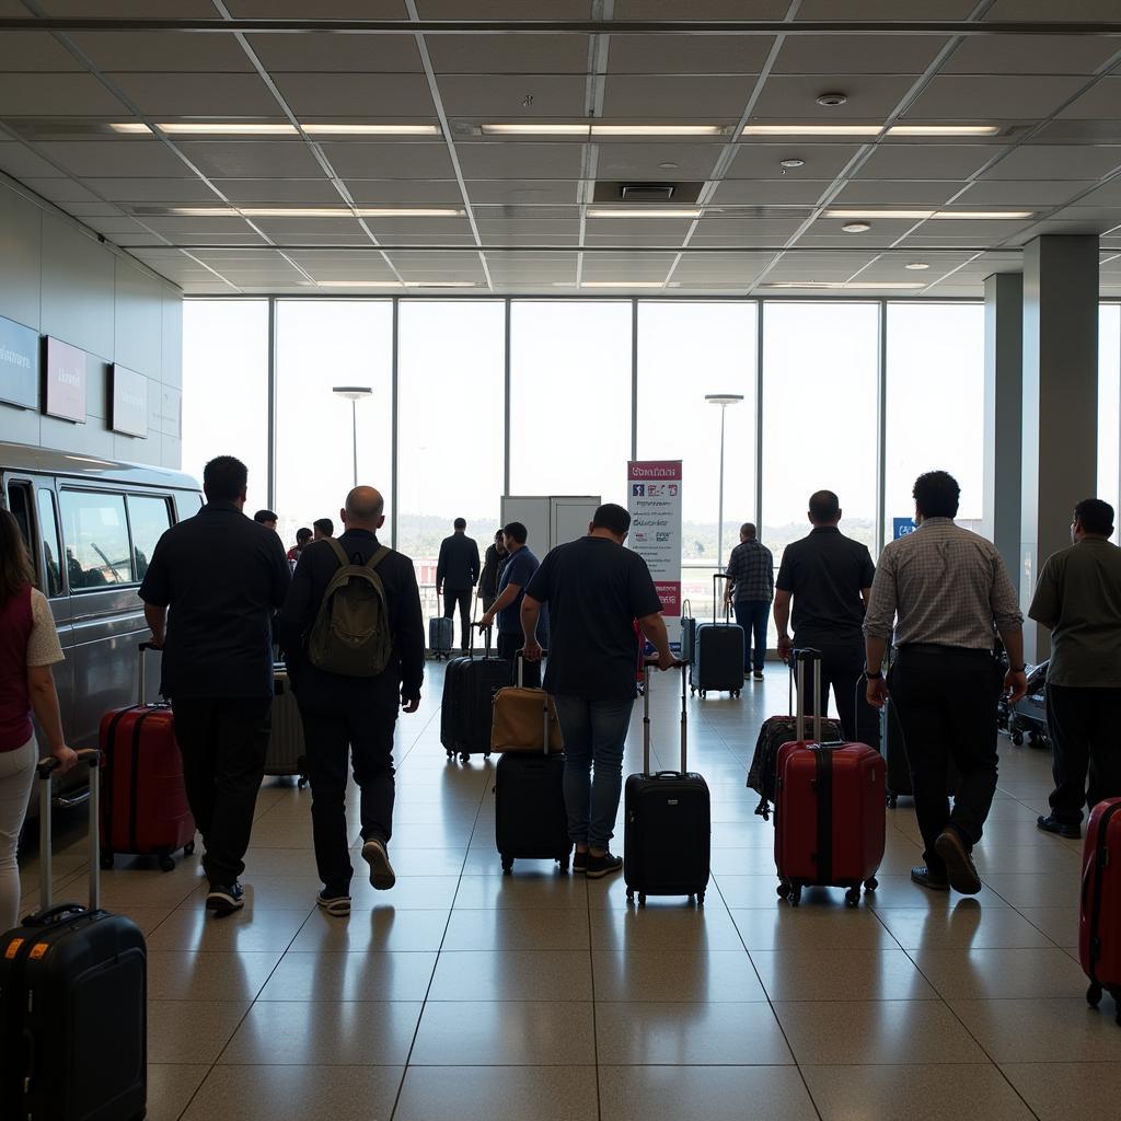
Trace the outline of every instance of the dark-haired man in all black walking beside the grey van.
{"label": "dark-haired man in all black walking beside the grey van", "polygon": [[233,456],[211,460],[206,504],[160,537],[140,585],[203,837],[206,907],[220,917],[244,904],[239,877],[272,706],[270,623],[291,578],[280,538],[242,512],[247,481]]}

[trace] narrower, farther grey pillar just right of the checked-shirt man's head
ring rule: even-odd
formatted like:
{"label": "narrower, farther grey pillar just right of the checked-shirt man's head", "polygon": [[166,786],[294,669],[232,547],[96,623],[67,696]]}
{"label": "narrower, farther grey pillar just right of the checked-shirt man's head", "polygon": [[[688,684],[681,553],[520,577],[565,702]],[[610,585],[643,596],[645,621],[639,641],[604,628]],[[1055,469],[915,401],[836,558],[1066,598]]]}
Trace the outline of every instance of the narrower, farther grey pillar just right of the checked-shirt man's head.
{"label": "narrower, farther grey pillar just right of the checked-shirt man's head", "polygon": [[1013,580],[1020,569],[1022,417],[1023,276],[997,272],[984,282],[983,532]]}

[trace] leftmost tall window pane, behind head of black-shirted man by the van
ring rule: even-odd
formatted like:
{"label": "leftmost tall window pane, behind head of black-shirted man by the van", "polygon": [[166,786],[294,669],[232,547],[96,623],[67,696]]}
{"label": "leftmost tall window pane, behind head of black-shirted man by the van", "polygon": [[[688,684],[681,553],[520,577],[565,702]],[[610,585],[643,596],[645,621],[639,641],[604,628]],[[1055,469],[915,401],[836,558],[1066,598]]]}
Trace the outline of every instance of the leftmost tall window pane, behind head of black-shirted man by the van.
{"label": "leftmost tall window pane, behind head of black-shirted man by the van", "polygon": [[188,299],[183,306],[183,470],[200,482],[215,455],[249,467],[249,504],[268,504],[269,306]]}

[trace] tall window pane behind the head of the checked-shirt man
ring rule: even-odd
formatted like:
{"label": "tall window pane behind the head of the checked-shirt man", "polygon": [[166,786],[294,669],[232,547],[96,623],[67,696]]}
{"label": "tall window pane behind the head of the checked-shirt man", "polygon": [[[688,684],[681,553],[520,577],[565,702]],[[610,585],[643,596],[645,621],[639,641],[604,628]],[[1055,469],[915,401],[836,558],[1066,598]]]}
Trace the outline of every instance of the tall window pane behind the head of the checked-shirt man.
{"label": "tall window pane behind the head of the checked-shirt man", "polygon": [[984,307],[888,304],[883,539],[915,513],[924,471],[962,488],[957,521],[981,531],[984,510]]}

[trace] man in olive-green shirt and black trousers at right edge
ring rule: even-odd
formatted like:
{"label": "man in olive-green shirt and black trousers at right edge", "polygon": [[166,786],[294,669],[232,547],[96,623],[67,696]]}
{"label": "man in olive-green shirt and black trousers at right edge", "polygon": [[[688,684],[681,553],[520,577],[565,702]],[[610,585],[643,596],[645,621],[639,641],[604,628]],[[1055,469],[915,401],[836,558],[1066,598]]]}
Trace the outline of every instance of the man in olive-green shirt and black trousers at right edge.
{"label": "man in olive-green shirt and black trousers at right edge", "polygon": [[[1055,790],[1039,828],[1082,836],[1082,807],[1121,796],[1121,549],[1113,507],[1074,508],[1074,545],[1048,557],[1028,614],[1051,632],[1047,730]],[[1086,778],[1090,778],[1087,789]]]}

